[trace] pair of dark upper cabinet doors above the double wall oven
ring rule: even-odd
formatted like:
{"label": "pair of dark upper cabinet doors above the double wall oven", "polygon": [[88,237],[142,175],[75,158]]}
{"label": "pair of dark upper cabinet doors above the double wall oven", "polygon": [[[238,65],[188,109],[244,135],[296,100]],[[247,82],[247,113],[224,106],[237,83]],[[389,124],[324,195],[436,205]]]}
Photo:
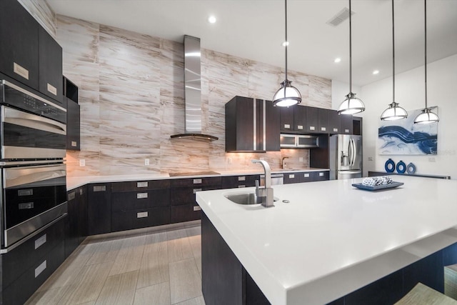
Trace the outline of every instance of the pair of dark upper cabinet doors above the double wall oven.
{"label": "pair of dark upper cabinet doors above the double wall oven", "polygon": [[0,72],[62,104],[62,48],[17,0],[2,0]]}

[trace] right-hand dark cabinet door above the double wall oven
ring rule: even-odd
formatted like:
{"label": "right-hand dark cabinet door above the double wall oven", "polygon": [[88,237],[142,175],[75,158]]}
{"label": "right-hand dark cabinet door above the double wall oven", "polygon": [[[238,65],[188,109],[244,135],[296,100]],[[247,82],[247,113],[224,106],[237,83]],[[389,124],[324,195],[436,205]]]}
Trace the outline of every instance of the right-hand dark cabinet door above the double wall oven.
{"label": "right-hand dark cabinet door above the double wall oven", "polygon": [[39,27],[39,91],[62,103],[62,48]]}

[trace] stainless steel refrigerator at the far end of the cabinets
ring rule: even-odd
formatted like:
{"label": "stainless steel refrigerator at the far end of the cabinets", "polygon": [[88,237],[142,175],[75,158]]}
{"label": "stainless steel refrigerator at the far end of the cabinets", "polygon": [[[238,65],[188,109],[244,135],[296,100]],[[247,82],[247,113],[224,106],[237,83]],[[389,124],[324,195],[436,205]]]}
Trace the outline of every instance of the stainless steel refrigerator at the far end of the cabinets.
{"label": "stainless steel refrigerator at the far end of the cabinets", "polygon": [[331,180],[362,176],[362,136],[333,134],[328,147]]}

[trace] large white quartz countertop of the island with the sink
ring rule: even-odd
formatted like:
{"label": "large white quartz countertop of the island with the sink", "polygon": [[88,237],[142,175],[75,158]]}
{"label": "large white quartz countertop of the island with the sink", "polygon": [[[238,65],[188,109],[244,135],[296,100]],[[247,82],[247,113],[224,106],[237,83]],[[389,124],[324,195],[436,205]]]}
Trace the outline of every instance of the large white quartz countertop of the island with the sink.
{"label": "large white quartz countertop of the island with the sink", "polygon": [[457,181],[395,176],[403,186],[372,192],[361,180],[273,186],[272,208],[224,197],[255,188],[196,199],[271,304],[326,304],[457,242]]}

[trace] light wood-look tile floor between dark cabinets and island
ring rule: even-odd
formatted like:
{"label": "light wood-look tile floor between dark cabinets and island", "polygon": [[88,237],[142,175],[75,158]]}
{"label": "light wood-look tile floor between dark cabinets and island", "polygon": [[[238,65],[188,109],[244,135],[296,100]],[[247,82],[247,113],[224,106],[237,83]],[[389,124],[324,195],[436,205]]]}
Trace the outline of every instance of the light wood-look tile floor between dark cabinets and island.
{"label": "light wood-look tile floor between dark cabinets and island", "polygon": [[199,224],[89,236],[26,304],[204,305]]}

